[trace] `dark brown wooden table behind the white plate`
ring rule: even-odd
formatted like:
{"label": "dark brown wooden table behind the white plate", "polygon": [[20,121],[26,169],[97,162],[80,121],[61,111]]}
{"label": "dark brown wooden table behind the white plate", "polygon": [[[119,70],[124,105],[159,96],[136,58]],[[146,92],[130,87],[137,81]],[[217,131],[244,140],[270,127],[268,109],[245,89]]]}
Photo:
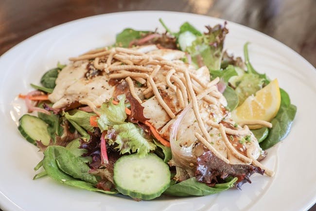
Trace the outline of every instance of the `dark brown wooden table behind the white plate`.
{"label": "dark brown wooden table behind the white plate", "polygon": [[[55,25],[131,10],[180,11],[234,21],[280,40],[316,66],[316,0],[0,0],[0,55]],[[310,211],[316,211],[316,205]]]}

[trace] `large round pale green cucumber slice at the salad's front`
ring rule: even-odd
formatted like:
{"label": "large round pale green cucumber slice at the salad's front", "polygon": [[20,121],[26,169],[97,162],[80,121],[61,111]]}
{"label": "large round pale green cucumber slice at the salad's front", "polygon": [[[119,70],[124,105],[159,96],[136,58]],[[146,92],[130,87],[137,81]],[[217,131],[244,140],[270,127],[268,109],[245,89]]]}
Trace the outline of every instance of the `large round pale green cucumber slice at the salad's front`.
{"label": "large round pale green cucumber slice at the salad's front", "polygon": [[170,177],[169,166],[154,153],[125,155],[114,164],[117,190],[135,199],[158,197],[170,186]]}

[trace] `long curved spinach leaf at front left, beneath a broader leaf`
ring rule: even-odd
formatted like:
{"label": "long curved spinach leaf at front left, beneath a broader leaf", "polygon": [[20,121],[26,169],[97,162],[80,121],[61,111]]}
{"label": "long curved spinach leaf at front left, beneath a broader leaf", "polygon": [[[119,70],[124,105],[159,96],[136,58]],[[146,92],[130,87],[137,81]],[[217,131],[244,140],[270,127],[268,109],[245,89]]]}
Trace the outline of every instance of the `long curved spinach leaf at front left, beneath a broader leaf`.
{"label": "long curved spinach leaf at front left, beneath a broader leaf", "polygon": [[63,184],[66,184],[72,187],[81,188],[81,189],[86,189],[88,191],[104,192],[107,194],[117,193],[116,191],[112,192],[112,191],[103,191],[103,190],[97,189],[90,183],[74,179],[67,173],[64,173],[63,171],[61,171],[58,168],[57,163],[56,163],[56,154],[55,154],[56,147],[58,146],[49,146],[44,152],[43,167],[46,173],[51,178]]}

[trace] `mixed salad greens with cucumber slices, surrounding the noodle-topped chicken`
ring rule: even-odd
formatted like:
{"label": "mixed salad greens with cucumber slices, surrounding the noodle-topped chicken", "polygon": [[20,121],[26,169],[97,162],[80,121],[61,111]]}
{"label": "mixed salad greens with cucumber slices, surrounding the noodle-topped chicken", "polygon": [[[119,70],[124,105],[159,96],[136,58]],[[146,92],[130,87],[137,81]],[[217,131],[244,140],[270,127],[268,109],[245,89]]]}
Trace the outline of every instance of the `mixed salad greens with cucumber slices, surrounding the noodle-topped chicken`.
{"label": "mixed salad greens with cucumber slices, surrounding the noodle-topped chicken", "polygon": [[[249,61],[247,46],[244,46],[245,62],[223,51],[226,23],[201,33],[188,22],[178,32],[171,32],[160,19],[166,33],[124,29],[116,37],[114,46],[156,44],[163,48],[180,49],[186,52],[185,62],[196,67],[206,65],[211,77],[220,77],[223,95],[232,112],[243,104],[248,96],[270,83],[265,74],[258,73]],[[159,36],[157,36],[159,35]],[[55,87],[59,72],[66,65],[58,63],[41,78],[41,86],[31,84],[36,93],[50,94]],[[272,119],[273,127],[252,130],[263,150],[268,149],[290,132],[296,114],[288,94],[280,89],[281,106]],[[35,115],[23,115],[18,130],[35,144],[44,158],[35,167],[43,167],[34,179],[50,176],[56,181],[106,194],[122,193],[134,199],[149,200],[161,194],[174,196],[209,195],[240,187],[250,182],[252,173],[261,173],[252,165],[230,165],[211,153],[197,158],[195,176],[183,181],[174,180],[176,169],[168,163],[172,160],[171,148],[165,146],[150,130],[148,119],[142,114],[143,107],[130,95],[107,100],[95,112],[80,110],[80,105],[64,109],[52,109],[46,95],[20,95],[32,103]],[[33,103],[36,103],[34,106]],[[205,166],[210,172],[206,178],[199,170]],[[225,176],[224,176],[225,175]],[[204,180],[213,181],[206,183]],[[214,182],[215,181],[215,182]],[[148,188],[149,187],[149,188]]]}

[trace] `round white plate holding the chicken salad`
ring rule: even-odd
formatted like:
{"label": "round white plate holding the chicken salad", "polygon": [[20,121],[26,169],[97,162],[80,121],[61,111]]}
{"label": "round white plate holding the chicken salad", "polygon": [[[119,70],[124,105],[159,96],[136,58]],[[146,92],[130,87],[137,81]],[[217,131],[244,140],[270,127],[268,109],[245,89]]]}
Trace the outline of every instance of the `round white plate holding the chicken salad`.
{"label": "round white plate holding the chicken salad", "polygon": [[278,78],[297,105],[290,135],[268,150],[264,164],[274,177],[252,176],[242,191],[228,190],[204,197],[168,198],[136,202],[119,196],[64,186],[50,178],[32,180],[34,166],[42,159],[35,146],[25,141],[15,120],[25,112],[19,93],[31,90],[42,74],[57,61],[89,49],[109,45],[126,27],[161,29],[164,19],[172,31],[184,21],[200,30],[224,20],[175,12],[124,12],[65,23],[29,38],[0,58],[0,207],[7,211],[266,211],[307,210],[316,202],[316,71],[304,58],[277,40],[236,23],[228,22],[225,48],[243,55],[246,41],[253,66],[270,78]]}

